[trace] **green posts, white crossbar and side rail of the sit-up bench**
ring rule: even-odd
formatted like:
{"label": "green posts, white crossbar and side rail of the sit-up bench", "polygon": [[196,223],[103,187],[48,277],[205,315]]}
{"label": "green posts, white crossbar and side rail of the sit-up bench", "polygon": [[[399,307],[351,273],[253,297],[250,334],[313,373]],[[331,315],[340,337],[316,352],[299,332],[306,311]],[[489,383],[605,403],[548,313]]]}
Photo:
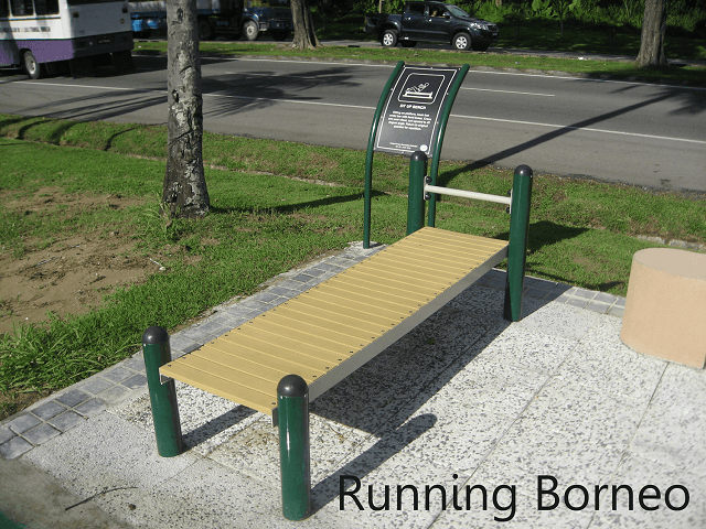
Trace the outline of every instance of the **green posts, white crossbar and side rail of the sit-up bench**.
{"label": "green posts, white crossbar and side rail of the sit-up bench", "polygon": [[[495,252],[484,263],[475,267],[470,273],[457,281],[440,295],[427,303],[410,317],[392,330],[385,332],[367,347],[359,352],[347,369],[339,375],[331,373],[329,382],[318,388],[310,388],[299,375],[284,377],[277,386],[277,408],[272,410],[274,425],[279,427],[280,439],[280,469],[282,487],[282,514],[287,519],[301,520],[311,512],[311,477],[310,477],[310,440],[309,440],[309,401],[345,378],[350,373],[374,358],[378,353],[404,336],[411,328],[424,322],[438,309],[448,303],[458,293],[473,284],[493,266],[507,256],[507,280],[503,316],[516,322],[522,313],[522,291],[524,287],[524,270],[527,251],[527,227],[530,222],[530,201],[532,195],[532,170],[521,165],[515,170],[511,198],[479,195],[477,193],[449,190],[429,184],[426,175],[427,159],[422,152],[411,156],[409,169],[409,195],[407,234],[411,235],[424,226],[425,199],[432,194],[453,194],[469,198],[490,199],[510,204],[510,240],[505,248]],[[493,240],[493,239],[488,239]],[[373,256],[375,257],[375,256]],[[371,259],[371,258],[368,258]],[[342,272],[344,273],[344,272]],[[267,314],[267,313],[266,313]],[[142,335],[145,365],[154,419],[154,434],[158,453],[163,457],[179,455],[182,447],[181,424],[174,380],[160,376],[160,368],[171,361],[169,335],[158,326],[149,327]],[[335,371],[335,369],[333,370]]]}

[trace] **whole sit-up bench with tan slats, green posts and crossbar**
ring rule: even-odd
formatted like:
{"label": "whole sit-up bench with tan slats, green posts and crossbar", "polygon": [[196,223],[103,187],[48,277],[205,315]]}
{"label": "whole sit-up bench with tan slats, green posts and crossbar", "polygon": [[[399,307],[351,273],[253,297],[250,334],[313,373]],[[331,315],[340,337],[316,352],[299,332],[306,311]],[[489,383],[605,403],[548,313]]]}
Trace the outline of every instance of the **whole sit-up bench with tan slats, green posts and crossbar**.
{"label": "whole sit-up bench with tan slats, green posts and crossbar", "polygon": [[[446,191],[425,184],[424,173],[410,166],[409,235],[404,239],[175,360],[163,328],[145,332],[160,455],[182,450],[174,380],[267,413],[280,429],[284,512],[289,519],[302,519],[310,508],[310,401],[505,257],[504,316],[520,320],[532,170],[517,168],[512,198]],[[510,204],[510,240],[422,227],[419,212],[424,217],[424,199],[431,193]]]}

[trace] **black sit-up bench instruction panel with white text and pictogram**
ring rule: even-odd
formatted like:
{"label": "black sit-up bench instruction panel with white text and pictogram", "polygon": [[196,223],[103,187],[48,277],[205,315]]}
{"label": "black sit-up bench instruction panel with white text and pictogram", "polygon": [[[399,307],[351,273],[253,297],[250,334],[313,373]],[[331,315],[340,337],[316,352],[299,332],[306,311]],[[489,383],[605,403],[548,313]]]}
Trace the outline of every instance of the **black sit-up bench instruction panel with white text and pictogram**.
{"label": "black sit-up bench instruction panel with white text and pictogram", "polygon": [[383,108],[375,150],[434,155],[439,116],[459,68],[405,66]]}

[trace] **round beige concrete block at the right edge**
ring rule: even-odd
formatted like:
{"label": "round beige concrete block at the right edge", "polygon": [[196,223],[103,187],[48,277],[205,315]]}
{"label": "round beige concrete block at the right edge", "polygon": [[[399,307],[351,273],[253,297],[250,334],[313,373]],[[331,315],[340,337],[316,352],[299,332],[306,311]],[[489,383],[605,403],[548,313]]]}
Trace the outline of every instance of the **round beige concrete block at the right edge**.
{"label": "round beige concrete block at the right edge", "polygon": [[674,248],[638,251],[620,338],[639,353],[703,369],[706,255]]}

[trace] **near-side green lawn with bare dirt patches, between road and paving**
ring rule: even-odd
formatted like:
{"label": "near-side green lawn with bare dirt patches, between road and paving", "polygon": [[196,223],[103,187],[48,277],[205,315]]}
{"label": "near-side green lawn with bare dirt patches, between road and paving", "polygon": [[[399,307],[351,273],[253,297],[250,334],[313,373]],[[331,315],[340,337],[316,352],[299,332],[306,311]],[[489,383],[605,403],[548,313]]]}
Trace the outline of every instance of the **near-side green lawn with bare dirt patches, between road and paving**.
{"label": "near-side green lawn with bare dirt patches, between road and paving", "polygon": [[[76,195],[139,198],[127,212],[74,212],[39,222],[0,206],[2,252],[21,257],[69,234],[107,234],[120,225],[136,252],[165,267],[106,295],[88,314],[49,316],[0,336],[3,392],[74,384],[132,354],[148,326],[179,328],[362,237],[364,152],[206,134],[212,210],[203,220],[170,223],[159,215],[163,128],[0,116],[0,136],[34,140],[0,140],[3,197],[51,185]],[[372,238],[378,242],[405,235],[407,174],[405,159],[376,154]],[[442,164],[440,177],[443,185],[502,195],[512,182],[507,171],[469,171],[458,163]],[[496,204],[445,197],[437,226],[506,239],[509,216]],[[706,242],[706,199],[537,175],[530,234],[528,274],[624,295],[632,255],[659,246],[631,236]]]}

